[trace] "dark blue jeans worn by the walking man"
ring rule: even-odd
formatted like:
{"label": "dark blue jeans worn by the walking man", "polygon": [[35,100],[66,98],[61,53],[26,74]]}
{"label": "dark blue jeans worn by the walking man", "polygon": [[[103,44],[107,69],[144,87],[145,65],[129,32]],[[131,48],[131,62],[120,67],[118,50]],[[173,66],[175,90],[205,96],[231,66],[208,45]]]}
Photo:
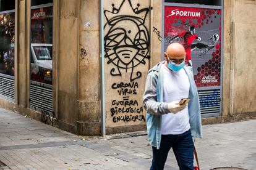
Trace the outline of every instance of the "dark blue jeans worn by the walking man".
{"label": "dark blue jeans worn by the walking man", "polygon": [[169,150],[173,148],[179,169],[194,169],[194,145],[190,130],[179,135],[162,135],[160,149],[152,147],[153,160],[150,170],[164,169]]}

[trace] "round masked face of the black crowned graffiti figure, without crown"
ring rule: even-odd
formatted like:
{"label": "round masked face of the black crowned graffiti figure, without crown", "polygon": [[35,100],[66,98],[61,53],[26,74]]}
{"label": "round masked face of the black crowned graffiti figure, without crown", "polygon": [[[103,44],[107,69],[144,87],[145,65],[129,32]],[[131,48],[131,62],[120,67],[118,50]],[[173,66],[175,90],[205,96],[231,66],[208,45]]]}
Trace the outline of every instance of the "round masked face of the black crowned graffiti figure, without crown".
{"label": "round masked face of the black crowned graffiti figure, without crown", "polygon": [[113,60],[116,66],[120,61],[119,67],[130,68],[129,64],[134,62],[137,55],[141,56],[136,58],[138,65],[148,54],[147,29],[137,22],[130,17],[122,18],[118,25],[109,28],[105,36],[106,56],[111,57],[110,55],[113,54],[111,59],[116,58],[116,62]]}

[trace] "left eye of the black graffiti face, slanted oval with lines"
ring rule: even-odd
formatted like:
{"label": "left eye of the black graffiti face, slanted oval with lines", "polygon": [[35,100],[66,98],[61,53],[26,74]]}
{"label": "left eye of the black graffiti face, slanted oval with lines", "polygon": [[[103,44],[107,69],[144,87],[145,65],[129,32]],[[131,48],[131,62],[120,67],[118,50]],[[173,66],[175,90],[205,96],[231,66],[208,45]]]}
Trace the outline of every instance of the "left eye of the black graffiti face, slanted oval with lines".
{"label": "left eye of the black graffiti face, slanted oval with lines", "polygon": [[116,28],[114,30],[110,30],[108,34],[105,36],[105,46],[106,47],[114,47],[117,46],[126,36],[126,30],[122,28]]}

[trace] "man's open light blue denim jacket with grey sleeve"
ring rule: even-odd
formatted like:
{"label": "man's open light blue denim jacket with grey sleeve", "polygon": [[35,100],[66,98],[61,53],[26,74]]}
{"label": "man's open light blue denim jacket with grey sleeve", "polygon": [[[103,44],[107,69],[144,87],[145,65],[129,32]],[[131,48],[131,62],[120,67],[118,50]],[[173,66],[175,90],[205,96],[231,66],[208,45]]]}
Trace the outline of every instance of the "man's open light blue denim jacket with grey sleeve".
{"label": "man's open light blue denim jacket with grey sleeve", "polygon": [[[163,69],[160,62],[148,71],[145,92],[143,95],[143,107],[147,110],[147,131],[150,145],[160,148],[161,122],[163,114],[169,113],[168,103],[163,102]],[[195,86],[192,67],[183,68],[189,77],[189,123],[193,137],[202,138],[202,123],[197,87]]]}

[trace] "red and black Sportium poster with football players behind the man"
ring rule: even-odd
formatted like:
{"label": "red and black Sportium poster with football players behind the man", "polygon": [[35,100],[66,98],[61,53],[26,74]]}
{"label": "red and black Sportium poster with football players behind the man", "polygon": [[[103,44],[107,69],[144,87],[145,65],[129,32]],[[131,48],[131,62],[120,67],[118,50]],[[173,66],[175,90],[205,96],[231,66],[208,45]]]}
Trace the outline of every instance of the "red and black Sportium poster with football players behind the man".
{"label": "red and black Sportium poster with football players behind the man", "polygon": [[164,51],[180,42],[192,65],[197,87],[221,85],[221,10],[164,7]]}

